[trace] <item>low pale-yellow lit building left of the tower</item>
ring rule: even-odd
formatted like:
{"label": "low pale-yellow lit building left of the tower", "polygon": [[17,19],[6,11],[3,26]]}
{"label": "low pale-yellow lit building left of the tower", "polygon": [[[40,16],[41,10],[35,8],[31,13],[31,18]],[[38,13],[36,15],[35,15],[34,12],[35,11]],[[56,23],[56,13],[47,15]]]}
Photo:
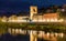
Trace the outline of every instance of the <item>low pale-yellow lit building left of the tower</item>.
{"label": "low pale-yellow lit building left of the tower", "polygon": [[11,16],[9,17],[8,22],[28,22],[26,18],[29,18],[29,16]]}

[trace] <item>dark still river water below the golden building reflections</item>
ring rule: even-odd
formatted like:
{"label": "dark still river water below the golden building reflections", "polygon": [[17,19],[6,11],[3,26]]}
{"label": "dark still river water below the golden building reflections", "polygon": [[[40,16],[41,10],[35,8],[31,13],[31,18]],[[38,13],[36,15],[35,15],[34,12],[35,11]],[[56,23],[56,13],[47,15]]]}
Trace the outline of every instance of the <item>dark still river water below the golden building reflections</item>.
{"label": "dark still river water below the golden building reflections", "polygon": [[[6,33],[0,35],[0,41],[30,41],[30,35],[29,34],[12,35],[10,33]],[[44,41],[44,40],[37,39],[37,41]]]}

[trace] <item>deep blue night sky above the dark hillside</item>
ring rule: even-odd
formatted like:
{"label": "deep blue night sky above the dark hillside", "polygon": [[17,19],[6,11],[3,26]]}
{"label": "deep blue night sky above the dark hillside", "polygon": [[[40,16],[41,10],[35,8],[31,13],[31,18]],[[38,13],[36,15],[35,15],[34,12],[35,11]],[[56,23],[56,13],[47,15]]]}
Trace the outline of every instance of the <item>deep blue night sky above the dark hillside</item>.
{"label": "deep blue night sky above the dark hillside", "polygon": [[65,4],[66,0],[0,0],[0,12],[20,12],[29,11],[30,6],[38,8],[51,4]]}

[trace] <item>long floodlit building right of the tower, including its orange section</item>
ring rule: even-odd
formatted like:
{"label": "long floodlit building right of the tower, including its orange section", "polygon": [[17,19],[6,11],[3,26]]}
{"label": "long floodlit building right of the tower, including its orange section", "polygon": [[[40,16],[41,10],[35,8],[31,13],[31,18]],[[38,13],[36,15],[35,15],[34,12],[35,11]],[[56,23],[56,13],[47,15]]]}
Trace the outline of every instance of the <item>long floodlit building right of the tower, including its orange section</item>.
{"label": "long floodlit building right of the tower, including its orange section", "polygon": [[[32,8],[31,8],[32,9]],[[36,8],[35,8],[36,9]],[[37,11],[37,9],[36,9]],[[58,12],[56,13],[33,13],[31,12],[33,22],[63,22],[64,19],[59,19]]]}

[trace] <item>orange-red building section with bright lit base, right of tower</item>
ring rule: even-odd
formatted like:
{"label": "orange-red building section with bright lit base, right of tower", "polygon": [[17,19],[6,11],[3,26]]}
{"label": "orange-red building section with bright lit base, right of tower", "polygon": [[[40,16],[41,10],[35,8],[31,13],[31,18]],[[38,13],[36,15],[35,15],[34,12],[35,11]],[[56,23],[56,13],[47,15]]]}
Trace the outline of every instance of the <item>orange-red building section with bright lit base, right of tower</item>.
{"label": "orange-red building section with bright lit base, right of tower", "polygon": [[43,22],[57,22],[58,21],[58,13],[46,13],[43,14]]}

